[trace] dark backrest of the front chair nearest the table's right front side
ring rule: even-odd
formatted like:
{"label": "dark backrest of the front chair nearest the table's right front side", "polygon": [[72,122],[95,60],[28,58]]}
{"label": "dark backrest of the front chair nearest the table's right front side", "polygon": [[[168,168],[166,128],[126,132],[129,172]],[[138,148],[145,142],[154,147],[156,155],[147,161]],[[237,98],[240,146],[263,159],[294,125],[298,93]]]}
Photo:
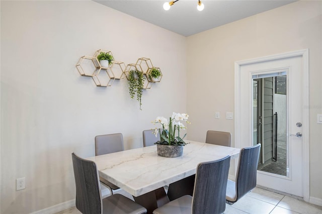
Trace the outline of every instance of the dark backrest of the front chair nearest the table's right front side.
{"label": "dark backrest of the front chair nearest the table's right front side", "polygon": [[198,164],[192,199],[193,214],[216,214],[225,210],[229,164],[230,156]]}

